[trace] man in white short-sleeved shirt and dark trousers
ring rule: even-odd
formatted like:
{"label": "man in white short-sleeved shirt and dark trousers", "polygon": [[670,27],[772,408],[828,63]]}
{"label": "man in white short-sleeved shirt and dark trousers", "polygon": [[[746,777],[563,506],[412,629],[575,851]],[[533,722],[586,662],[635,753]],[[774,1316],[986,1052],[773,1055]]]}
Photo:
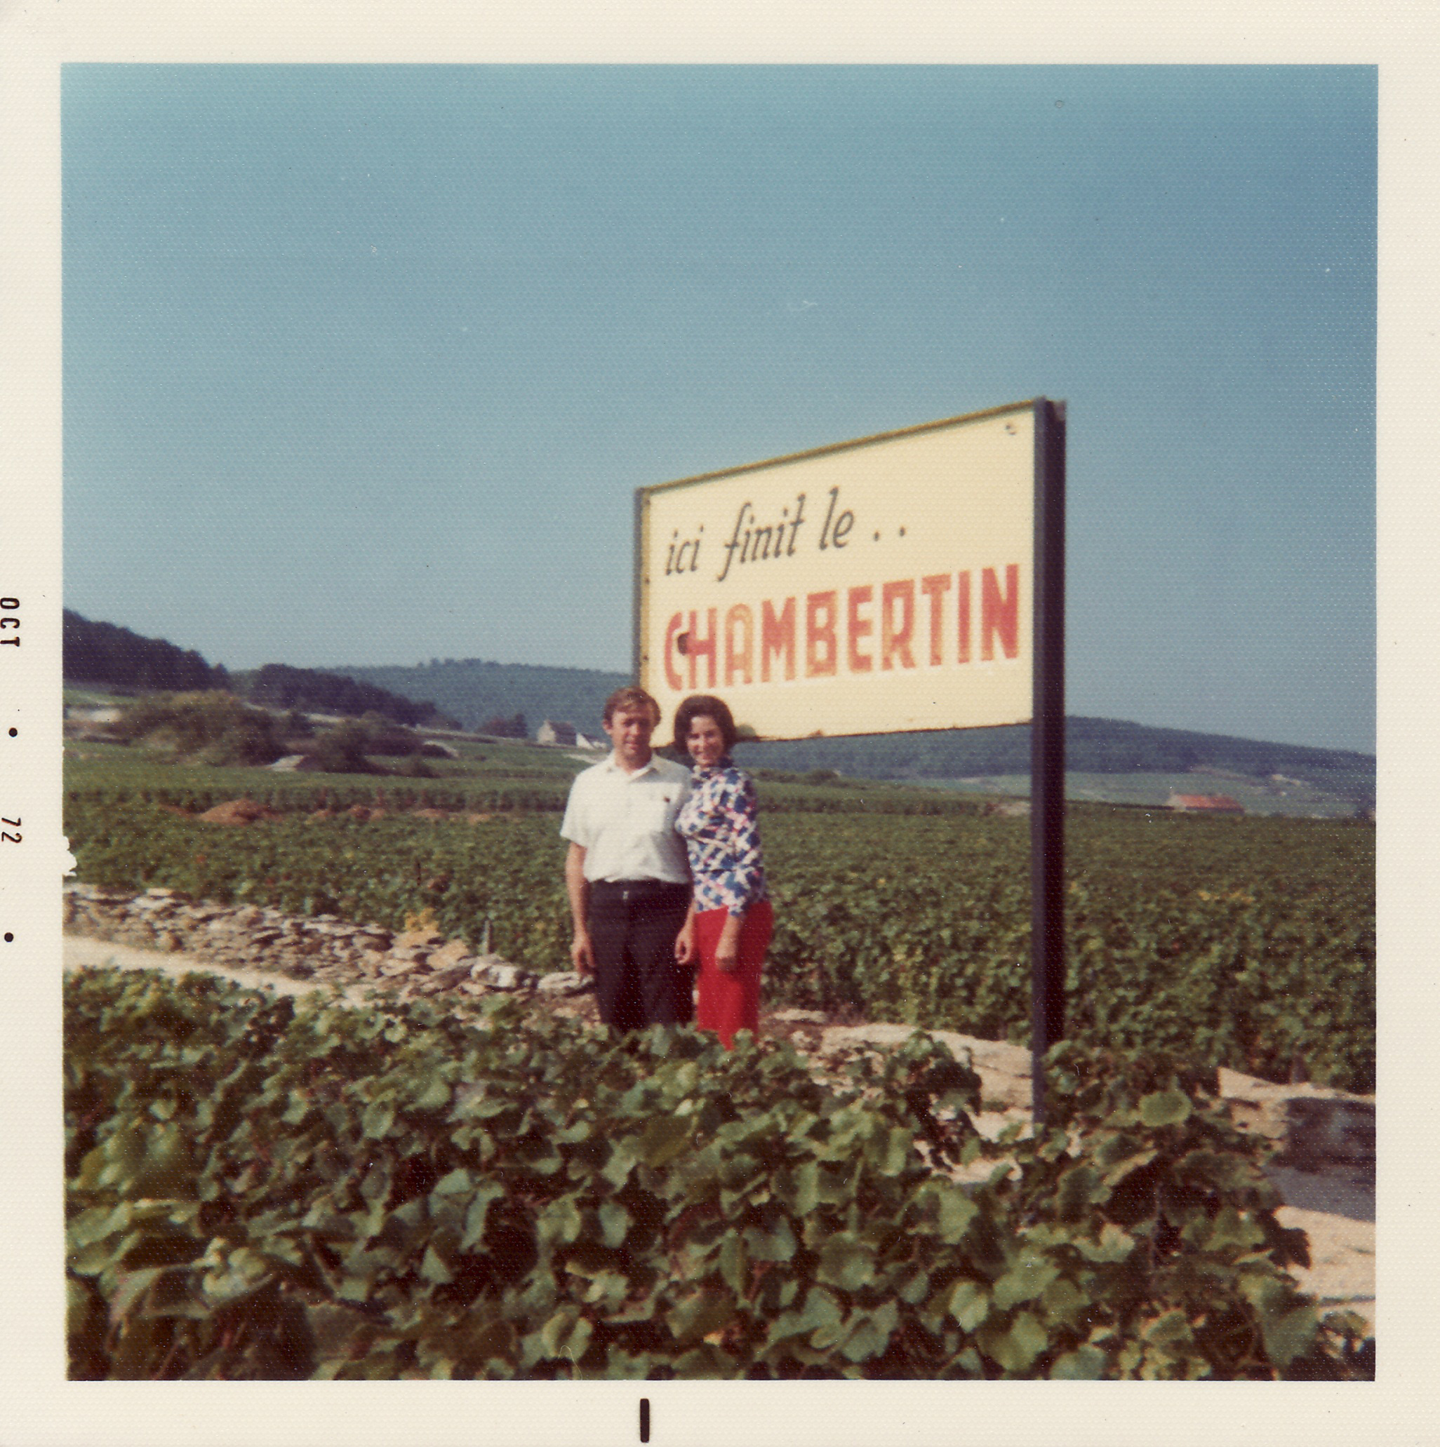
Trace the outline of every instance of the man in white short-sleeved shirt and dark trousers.
{"label": "man in white short-sleeved shirt and dark trousers", "polygon": [[660,705],[644,689],[605,700],[609,758],[570,786],[560,835],[575,941],[570,958],[593,974],[612,1030],[689,1024],[693,965],[676,958],[690,906],[690,870],[674,828],[690,771],[651,752]]}

